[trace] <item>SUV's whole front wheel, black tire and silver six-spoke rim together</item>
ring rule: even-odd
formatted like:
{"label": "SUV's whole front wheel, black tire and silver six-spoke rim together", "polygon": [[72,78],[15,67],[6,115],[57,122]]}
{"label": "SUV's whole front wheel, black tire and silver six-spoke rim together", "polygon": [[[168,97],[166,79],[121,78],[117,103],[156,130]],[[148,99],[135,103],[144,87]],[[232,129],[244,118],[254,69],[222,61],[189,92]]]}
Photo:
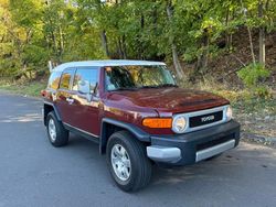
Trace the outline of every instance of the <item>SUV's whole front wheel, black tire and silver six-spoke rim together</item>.
{"label": "SUV's whole front wheel, black tire and silver six-spoke rim together", "polygon": [[151,163],[145,145],[127,131],[115,132],[107,143],[107,164],[117,186],[125,192],[145,187],[151,177]]}

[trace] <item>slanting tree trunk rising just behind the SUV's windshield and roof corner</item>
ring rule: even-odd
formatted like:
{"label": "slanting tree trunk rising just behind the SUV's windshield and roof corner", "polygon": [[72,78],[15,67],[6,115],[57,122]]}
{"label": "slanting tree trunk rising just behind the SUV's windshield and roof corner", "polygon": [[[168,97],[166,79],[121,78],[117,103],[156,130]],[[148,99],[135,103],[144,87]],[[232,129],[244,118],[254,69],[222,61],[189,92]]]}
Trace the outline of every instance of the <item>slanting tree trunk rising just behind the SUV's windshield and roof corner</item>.
{"label": "slanting tree trunk rising just behind the SUV's windshield and roof corner", "polygon": [[[168,15],[169,23],[171,25],[173,11],[172,11],[172,3],[171,3],[170,0],[168,1],[168,4],[167,4],[167,15]],[[180,61],[179,61],[179,57],[178,57],[178,50],[177,50],[177,45],[174,43],[174,36],[173,36],[173,33],[172,33],[172,29],[170,29],[170,33],[171,33],[170,34],[170,44],[171,44],[173,66],[174,66],[174,68],[177,70],[177,74],[178,74],[179,78],[183,78],[183,70],[182,70],[182,67],[180,65]]]}

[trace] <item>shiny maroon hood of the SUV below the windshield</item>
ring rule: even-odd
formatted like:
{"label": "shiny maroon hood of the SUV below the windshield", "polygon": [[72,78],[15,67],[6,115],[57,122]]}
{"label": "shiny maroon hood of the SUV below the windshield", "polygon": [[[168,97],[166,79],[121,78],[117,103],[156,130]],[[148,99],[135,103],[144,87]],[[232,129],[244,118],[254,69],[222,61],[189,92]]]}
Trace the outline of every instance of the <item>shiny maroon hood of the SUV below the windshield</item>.
{"label": "shiny maroon hood of the SUV below the windshield", "polygon": [[159,113],[191,112],[229,103],[211,92],[174,87],[113,91],[108,99],[131,108],[153,109]]}

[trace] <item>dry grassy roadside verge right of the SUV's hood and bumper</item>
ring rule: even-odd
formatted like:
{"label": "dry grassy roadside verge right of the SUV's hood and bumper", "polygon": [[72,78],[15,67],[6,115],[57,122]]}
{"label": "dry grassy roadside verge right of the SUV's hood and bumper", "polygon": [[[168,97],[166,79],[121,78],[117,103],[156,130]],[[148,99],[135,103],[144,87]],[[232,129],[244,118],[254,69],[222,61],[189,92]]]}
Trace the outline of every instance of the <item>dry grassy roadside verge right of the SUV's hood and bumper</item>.
{"label": "dry grassy roadside verge right of the SUV's hood and bumper", "polygon": [[248,89],[229,89],[220,84],[202,84],[193,88],[212,91],[231,101],[234,118],[242,124],[242,132],[276,138],[276,91],[272,88],[262,96]]}

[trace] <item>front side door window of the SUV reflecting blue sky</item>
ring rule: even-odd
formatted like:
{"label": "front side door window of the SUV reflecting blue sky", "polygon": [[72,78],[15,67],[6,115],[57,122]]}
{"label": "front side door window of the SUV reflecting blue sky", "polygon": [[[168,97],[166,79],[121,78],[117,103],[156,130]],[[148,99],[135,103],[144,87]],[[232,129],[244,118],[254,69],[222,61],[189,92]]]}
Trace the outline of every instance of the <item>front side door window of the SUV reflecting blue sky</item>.
{"label": "front side door window of the SUV reflecting blue sky", "polygon": [[[97,68],[78,68],[76,70],[73,84],[73,90],[82,94],[93,94],[98,85]],[[97,91],[95,91],[97,92]]]}

